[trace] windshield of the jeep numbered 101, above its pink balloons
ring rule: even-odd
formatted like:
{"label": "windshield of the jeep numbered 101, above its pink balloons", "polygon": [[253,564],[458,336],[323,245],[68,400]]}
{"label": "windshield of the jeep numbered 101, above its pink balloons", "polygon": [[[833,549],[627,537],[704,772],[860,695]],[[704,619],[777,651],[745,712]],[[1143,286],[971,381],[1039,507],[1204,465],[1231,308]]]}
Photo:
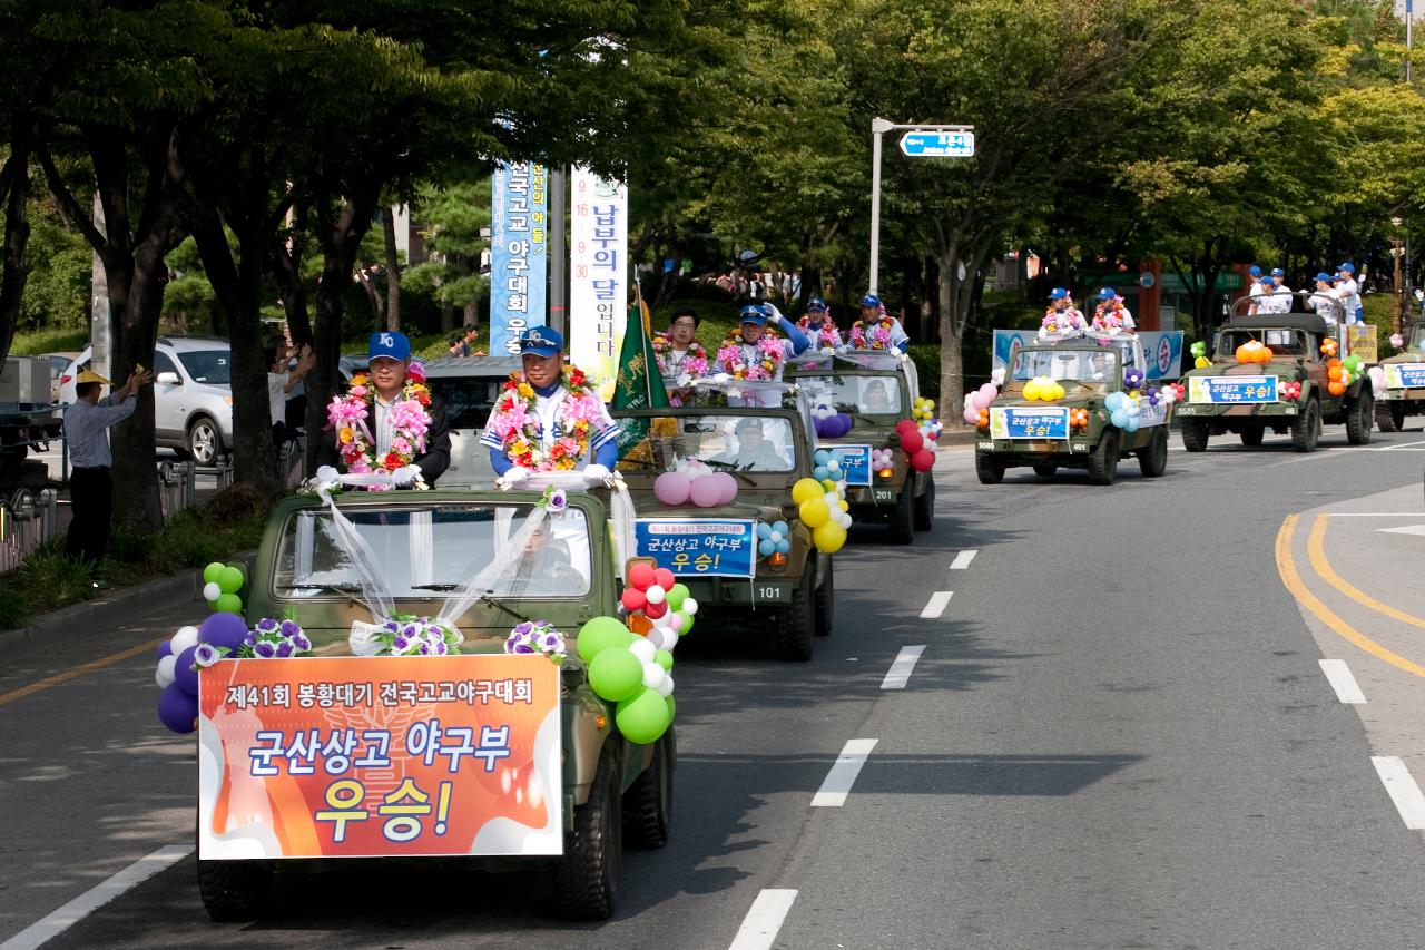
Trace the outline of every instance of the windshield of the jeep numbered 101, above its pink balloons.
{"label": "windshield of the jeep numbered 101, above its pink balloons", "polygon": [[775,415],[703,414],[624,417],[620,444],[628,445],[624,471],[671,472],[678,462],[698,459],[737,472],[791,472],[797,441],[788,419]]}

